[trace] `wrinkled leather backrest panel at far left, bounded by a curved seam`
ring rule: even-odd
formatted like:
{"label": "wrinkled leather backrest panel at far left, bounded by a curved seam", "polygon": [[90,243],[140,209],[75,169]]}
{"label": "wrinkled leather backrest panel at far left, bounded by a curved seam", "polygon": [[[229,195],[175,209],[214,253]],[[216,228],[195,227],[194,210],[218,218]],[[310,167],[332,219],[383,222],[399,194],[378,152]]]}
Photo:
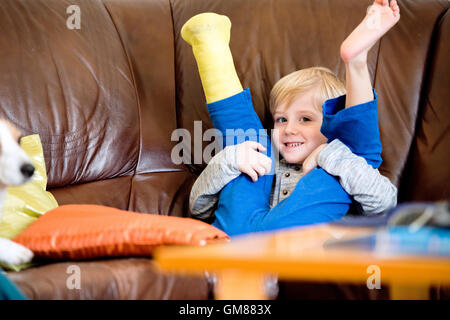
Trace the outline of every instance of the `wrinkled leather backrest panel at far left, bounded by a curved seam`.
{"label": "wrinkled leather backrest panel at far left, bounded by a curved seam", "polygon": [[114,23],[101,2],[83,1],[81,30],[70,30],[67,7],[0,3],[0,115],[39,133],[49,187],[130,174],[139,155],[133,75]]}

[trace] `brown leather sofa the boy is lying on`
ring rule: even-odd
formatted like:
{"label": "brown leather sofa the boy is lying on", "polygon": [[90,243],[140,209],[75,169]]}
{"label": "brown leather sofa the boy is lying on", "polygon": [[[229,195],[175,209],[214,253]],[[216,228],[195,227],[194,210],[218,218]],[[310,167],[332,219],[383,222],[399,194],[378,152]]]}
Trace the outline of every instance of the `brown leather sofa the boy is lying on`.
{"label": "brown leather sofa the boy is lying on", "polygon": [[[176,128],[194,134],[194,121],[202,121],[203,131],[211,122],[181,26],[205,11],[230,17],[239,77],[270,128],[268,97],[280,77],[314,65],[344,76],[340,43],[370,2],[3,0],[0,117],[24,134],[40,134],[48,188],[60,205],[188,216],[189,191],[204,163],[175,165],[170,155],[178,141],[171,134]],[[379,94],[381,171],[399,187],[400,202],[449,199],[449,3],[399,3],[399,24],[369,55]],[[81,9],[79,30],[66,25],[73,4]],[[72,264],[80,267],[81,289],[66,286]],[[206,277],[160,274],[143,258],[53,262],[9,276],[32,299],[211,297]],[[373,297],[314,288],[321,298]],[[297,283],[296,290],[311,292],[310,284]]]}

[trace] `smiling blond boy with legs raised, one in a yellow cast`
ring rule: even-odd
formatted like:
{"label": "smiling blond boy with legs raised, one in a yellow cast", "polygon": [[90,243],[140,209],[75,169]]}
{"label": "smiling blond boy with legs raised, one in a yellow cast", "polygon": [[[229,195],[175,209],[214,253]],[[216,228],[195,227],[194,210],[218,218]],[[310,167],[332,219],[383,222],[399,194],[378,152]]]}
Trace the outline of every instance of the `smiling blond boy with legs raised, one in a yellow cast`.
{"label": "smiling blond boy with legs raised, one in a yellow cast", "polygon": [[[370,28],[366,23],[373,14],[378,15],[378,28]],[[274,94],[271,93],[276,129],[274,143],[286,163],[303,164],[303,169],[306,169],[303,171],[310,170],[316,161],[320,164],[322,153],[327,151],[328,146],[324,144],[328,140],[330,147],[345,150],[347,155],[351,151],[374,168],[380,165],[376,94],[370,83],[367,52],[399,18],[395,0],[390,5],[388,0],[375,0],[363,22],[343,42],[341,57],[346,66],[347,96],[338,97],[344,93],[338,84],[326,84],[324,79],[332,78],[332,74],[324,68],[312,68],[313,76],[306,74],[304,85],[297,92],[288,90],[284,94],[282,85],[274,87]],[[183,26],[182,36],[193,47],[214,127],[222,132],[226,129],[260,130],[262,125],[251,105],[249,91],[243,91],[234,69],[228,47],[230,26],[226,17],[202,14]],[[338,98],[325,101],[322,116],[317,104],[325,100],[323,92],[328,98]],[[226,137],[225,146],[235,145],[234,137],[229,138]],[[261,131],[256,135],[256,139],[265,138]],[[346,146],[349,150],[345,149]],[[251,149],[254,149],[253,154]],[[341,218],[349,209],[350,195],[339,180],[323,168],[314,168],[301,176],[292,193],[271,207],[273,174],[267,174],[271,171],[271,163],[256,152],[266,151],[265,148],[255,142],[247,142],[225,150],[234,150],[228,164],[233,163],[235,157],[234,169],[237,167],[239,172],[253,175],[253,180],[247,175],[237,176],[220,192],[213,225],[229,235],[327,222]],[[270,144],[267,151],[273,157]],[[249,165],[247,155],[256,161]],[[377,171],[363,169],[372,172],[370,175],[373,177],[380,176]],[[260,176],[257,180],[255,173]],[[341,182],[345,185],[349,181],[351,179]]]}

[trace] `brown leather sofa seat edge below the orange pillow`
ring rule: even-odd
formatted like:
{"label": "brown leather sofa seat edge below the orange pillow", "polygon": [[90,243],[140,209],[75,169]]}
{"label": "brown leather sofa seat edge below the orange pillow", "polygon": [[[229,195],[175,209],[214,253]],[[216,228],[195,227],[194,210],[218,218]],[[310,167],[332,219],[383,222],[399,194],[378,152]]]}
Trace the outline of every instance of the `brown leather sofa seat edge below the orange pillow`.
{"label": "brown leather sofa seat edge below the orange pillow", "polygon": [[[80,289],[74,288],[76,279],[69,278],[76,272]],[[211,291],[205,277],[161,273],[147,258],[58,262],[10,272],[8,277],[26,297],[42,300],[204,300]]]}

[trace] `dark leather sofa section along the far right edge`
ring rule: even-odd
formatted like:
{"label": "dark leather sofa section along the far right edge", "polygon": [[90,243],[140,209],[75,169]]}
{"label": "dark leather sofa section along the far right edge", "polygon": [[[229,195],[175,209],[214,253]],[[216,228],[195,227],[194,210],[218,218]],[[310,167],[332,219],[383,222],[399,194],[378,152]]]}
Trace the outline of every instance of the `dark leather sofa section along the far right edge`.
{"label": "dark leather sofa section along the far right edge", "polygon": [[450,200],[450,12],[436,22],[401,200]]}

